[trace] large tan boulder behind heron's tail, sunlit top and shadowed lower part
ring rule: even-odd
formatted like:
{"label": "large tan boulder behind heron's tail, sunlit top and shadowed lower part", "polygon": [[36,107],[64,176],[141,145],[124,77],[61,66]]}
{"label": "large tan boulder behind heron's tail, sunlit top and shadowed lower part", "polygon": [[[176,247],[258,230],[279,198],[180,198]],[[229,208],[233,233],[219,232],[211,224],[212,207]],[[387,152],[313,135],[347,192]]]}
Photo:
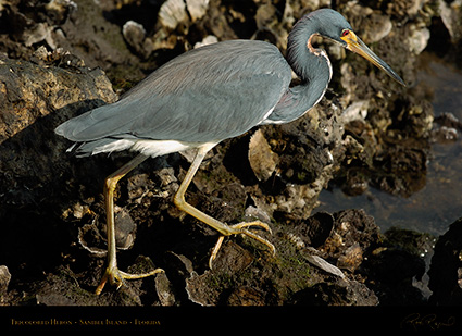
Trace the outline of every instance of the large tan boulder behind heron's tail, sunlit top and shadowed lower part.
{"label": "large tan boulder behind heron's tail, sunlit top and shadowed lower part", "polygon": [[53,186],[68,167],[64,153],[70,146],[54,136],[54,127],[115,98],[100,69],[39,66],[2,57],[0,189],[3,191],[0,198],[3,204],[24,204],[30,199],[39,202],[52,197],[51,190],[58,190]]}

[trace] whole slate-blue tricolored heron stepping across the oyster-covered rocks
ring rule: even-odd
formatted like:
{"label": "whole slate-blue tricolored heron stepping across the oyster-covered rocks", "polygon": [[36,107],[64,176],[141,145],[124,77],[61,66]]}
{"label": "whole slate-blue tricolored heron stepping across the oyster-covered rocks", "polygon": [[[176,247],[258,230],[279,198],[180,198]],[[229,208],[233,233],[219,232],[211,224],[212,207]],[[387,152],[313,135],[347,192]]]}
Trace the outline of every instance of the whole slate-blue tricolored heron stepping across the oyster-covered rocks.
{"label": "whole slate-blue tricolored heron stepping across the oyster-covered rocks", "polygon": [[[204,46],[173,59],[132,88],[121,99],[77,117],[57,129],[73,140],[77,157],[121,150],[139,154],[111,174],[104,184],[108,225],[108,267],[97,288],[101,293],[109,279],[122,286],[124,278],[141,278],[159,272],[128,274],[117,269],[114,235],[113,192],[117,182],[149,157],[197,149],[174,203],[184,212],[220,232],[210,265],[225,236],[244,234],[274,246],[248,227],[262,222],[227,225],[185,201],[185,192],[207,152],[220,141],[239,136],[265,124],[289,123],[305,114],[324,96],[332,77],[330,62],[322,49],[312,45],[321,35],[357,52],[404,82],[353,33],[338,12],[321,9],[300,18],[288,37],[287,60],[279,50],[258,40],[229,40]],[[291,70],[301,84],[289,87]],[[117,288],[118,288],[117,287]]]}

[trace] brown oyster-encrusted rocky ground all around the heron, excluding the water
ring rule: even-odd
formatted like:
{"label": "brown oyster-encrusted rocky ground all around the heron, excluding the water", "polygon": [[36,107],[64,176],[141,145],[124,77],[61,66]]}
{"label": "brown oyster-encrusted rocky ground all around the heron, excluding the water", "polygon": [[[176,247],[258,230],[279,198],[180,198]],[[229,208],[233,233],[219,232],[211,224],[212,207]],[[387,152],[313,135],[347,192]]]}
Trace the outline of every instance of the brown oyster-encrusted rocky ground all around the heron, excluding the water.
{"label": "brown oyster-encrusted rocky ground all around the heron, excluding the water", "polygon": [[409,88],[321,40],[334,66],[321,103],[294,123],[224,141],[204,160],[188,201],[226,223],[269,223],[273,234],[259,234],[275,245],[276,256],[235,237],[225,239],[213,269],[208,267],[218,235],[173,206],[190,159],[176,153],[146,161],[115,191],[121,269],[162,267],[165,274],[128,282],[120,290],[105,288],[100,296],[93,291],[105,262],[102,184],[132,154],[73,158],[65,153],[71,144],[55,136],[54,127],[115,101],[149,72],[207,40],[265,39],[285,52],[296,20],[334,3],[2,4],[0,304],[460,303],[460,244],[451,240],[460,236],[452,234],[460,223],[436,245],[429,297],[425,256],[434,237],[380,233],[362,210],[313,214],[329,184],[348,195],[370,187],[412,195],[425,185],[429,145],[460,132],[460,122],[450,115],[435,120],[435,126],[426,92],[412,85],[417,54],[441,32],[449,32],[448,41],[460,48],[461,25],[448,12],[458,8],[438,3],[336,2],[335,9]]}

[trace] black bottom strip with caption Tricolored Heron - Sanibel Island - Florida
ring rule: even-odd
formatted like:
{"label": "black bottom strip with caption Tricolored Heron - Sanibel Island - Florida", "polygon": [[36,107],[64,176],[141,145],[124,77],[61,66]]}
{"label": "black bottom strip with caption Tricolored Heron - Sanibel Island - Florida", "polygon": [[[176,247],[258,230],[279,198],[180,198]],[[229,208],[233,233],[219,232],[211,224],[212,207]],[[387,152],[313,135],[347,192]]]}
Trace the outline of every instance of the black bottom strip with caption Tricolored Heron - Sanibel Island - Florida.
{"label": "black bottom strip with caption Tricolored Heron - Sanibel Island - Florida", "polygon": [[9,332],[462,332],[462,307],[0,307]]}

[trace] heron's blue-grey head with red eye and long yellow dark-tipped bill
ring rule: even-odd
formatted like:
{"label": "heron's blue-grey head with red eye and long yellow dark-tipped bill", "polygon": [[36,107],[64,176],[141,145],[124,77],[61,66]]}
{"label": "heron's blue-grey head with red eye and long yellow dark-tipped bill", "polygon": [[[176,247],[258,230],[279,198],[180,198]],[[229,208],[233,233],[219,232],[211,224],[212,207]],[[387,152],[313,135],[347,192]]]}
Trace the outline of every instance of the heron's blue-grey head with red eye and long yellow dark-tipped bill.
{"label": "heron's blue-grey head with red eye and long yellow dark-tipped bill", "polygon": [[344,48],[362,55],[364,59],[383,70],[387,75],[399,84],[405,86],[404,82],[392,69],[377,57],[359,37],[354,34],[351,25],[345,17],[330,9],[322,9],[310,13],[312,18],[319,20],[319,34],[327,37]]}

